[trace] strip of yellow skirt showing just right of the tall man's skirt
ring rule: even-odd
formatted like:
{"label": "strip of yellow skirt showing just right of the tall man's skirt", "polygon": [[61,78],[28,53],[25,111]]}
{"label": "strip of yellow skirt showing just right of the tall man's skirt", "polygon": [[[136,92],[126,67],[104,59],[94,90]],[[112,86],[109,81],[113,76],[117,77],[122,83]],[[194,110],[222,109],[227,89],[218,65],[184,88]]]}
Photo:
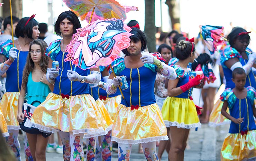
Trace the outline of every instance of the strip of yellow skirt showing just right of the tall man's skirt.
{"label": "strip of yellow skirt showing just right of the tall man's skirt", "polygon": [[95,102],[96,102],[96,112],[97,112],[97,115],[100,117],[99,126],[102,125],[102,127],[105,129],[105,132],[103,135],[106,135],[107,132],[112,130],[113,121],[110,117],[110,114],[107,112],[107,109],[104,103],[100,99],[97,99]]}

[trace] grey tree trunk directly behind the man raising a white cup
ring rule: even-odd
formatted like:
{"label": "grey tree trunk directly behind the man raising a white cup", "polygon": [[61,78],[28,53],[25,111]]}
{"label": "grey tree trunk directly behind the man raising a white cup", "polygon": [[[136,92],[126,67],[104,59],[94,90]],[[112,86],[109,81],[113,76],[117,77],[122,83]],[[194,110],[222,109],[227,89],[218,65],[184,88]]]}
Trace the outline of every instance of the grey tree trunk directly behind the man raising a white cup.
{"label": "grey tree trunk directly behind the man raising a white cup", "polygon": [[147,49],[156,51],[156,26],[155,26],[155,0],[145,0],[145,30],[147,36]]}

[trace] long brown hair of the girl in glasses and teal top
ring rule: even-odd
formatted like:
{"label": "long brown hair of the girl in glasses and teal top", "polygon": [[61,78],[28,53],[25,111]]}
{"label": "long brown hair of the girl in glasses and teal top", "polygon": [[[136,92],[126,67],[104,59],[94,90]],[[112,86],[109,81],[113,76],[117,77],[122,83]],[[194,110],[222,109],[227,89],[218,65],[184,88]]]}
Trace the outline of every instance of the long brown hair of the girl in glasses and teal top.
{"label": "long brown hair of the girl in glasses and teal top", "polygon": [[[42,57],[41,57],[41,60],[40,60],[40,63],[39,63],[39,66],[41,67],[42,71],[44,73],[47,72],[47,67],[48,67],[48,57],[44,54],[46,51],[45,51],[45,48],[48,46],[46,44],[46,42],[42,39],[35,39],[31,42],[30,46],[29,46],[29,52],[31,50],[31,46],[32,45],[39,45],[40,48],[41,48],[41,54],[42,54]],[[29,73],[32,72],[34,69],[34,62],[33,60],[31,59],[31,55],[30,53],[28,53],[28,56],[27,56],[27,60],[26,60],[26,64],[24,66],[24,70],[23,70],[23,75],[22,75],[22,81],[23,81],[23,85],[22,87],[25,88],[27,86],[27,83],[28,83],[28,78],[29,78]]]}

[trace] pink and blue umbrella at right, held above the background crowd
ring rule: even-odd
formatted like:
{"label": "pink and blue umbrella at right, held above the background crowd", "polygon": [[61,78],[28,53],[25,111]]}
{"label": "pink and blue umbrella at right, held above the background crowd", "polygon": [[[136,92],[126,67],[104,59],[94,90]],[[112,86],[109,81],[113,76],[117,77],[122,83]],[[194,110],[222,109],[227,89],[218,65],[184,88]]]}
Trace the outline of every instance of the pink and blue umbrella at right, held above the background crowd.
{"label": "pink and blue umbrella at right, held above the background crowd", "polygon": [[201,29],[202,38],[205,40],[206,46],[213,54],[216,50],[221,48],[227,39],[224,37],[224,27],[223,26],[199,26]]}

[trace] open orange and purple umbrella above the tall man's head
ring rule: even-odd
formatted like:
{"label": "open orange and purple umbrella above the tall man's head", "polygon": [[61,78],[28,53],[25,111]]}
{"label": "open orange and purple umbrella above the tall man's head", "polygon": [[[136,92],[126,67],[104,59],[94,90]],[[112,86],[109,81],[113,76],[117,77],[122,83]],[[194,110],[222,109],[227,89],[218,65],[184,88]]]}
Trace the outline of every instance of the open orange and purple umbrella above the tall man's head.
{"label": "open orange and purple umbrella above the tall man's head", "polygon": [[63,0],[63,2],[81,20],[86,20],[88,23],[106,18],[125,20],[126,12],[138,10],[137,7],[122,6],[115,0]]}

